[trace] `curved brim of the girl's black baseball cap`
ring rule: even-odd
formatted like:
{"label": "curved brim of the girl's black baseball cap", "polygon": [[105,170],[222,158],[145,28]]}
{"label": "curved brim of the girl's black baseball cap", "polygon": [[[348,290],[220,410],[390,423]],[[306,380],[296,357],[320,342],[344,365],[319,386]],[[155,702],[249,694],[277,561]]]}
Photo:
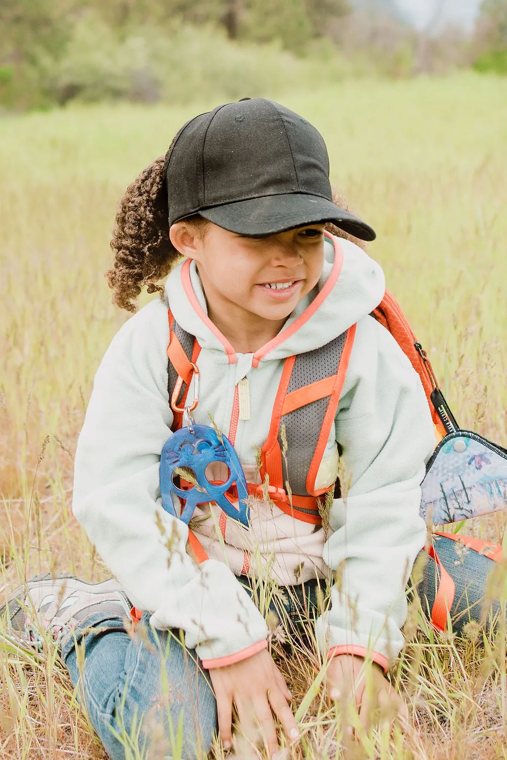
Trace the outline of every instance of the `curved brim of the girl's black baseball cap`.
{"label": "curved brim of the girl's black baseball cap", "polygon": [[251,237],[274,235],[316,222],[332,222],[340,230],[361,240],[374,240],[376,237],[368,224],[320,195],[265,195],[200,209],[198,213],[224,230]]}

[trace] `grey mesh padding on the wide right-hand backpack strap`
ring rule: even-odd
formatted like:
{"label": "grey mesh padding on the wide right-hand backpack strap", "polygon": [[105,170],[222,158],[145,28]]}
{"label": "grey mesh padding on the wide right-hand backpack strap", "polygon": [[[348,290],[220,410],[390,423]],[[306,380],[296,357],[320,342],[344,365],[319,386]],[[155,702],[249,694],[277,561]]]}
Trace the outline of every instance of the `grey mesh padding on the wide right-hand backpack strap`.
{"label": "grey mesh padding on the wide right-hand backpack strap", "polygon": [[[346,339],[347,331],[325,346],[299,353],[294,362],[287,393],[335,375]],[[284,414],[280,420],[279,444],[282,452],[285,448],[282,442],[282,425],[285,426],[287,438],[287,462],[282,456],[283,482],[285,486],[288,480],[296,496],[311,496],[307,491],[308,470],[319,441],[328,404],[329,396],[326,396]]]}

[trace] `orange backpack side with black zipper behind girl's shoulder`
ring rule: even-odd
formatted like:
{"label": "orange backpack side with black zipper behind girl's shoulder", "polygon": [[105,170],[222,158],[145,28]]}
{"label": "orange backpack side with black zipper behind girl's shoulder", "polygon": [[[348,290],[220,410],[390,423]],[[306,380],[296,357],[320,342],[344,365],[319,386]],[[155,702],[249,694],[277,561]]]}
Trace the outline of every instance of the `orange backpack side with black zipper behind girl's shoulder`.
{"label": "orange backpack side with black zipper behind girl's shoulder", "polygon": [[443,437],[449,432],[458,430],[459,425],[449,409],[442,391],[439,389],[430,359],[428,359],[426,351],[416,339],[407,318],[402,312],[402,307],[392,293],[389,293],[389,290],[386,290],[379,306],[372,312],[372,316],[386,330],[389,330],[398,346],[405,353],[405,356],[408,356],[408,359],[410,359],[411,365],[423,384],[431,416],[433,417],[433,424],[439,435]]}

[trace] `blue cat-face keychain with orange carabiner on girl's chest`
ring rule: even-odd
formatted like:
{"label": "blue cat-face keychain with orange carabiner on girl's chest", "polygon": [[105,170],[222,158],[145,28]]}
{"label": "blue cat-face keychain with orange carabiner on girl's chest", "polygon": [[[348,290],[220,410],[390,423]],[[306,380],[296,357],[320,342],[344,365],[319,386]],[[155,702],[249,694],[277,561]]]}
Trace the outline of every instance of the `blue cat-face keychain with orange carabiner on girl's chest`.
{"label": "blue cat-face keychain with orange carabiner on girl's chest", "polygon": [[[182,382],[177,383],[171,400],[173,410],[183,411],[183,426],[173,432],[162,448],[160,458],[162,506],[169,515],[179,517],[188,524],[198,504],[215,502],[228,517],[248,527],[247,481],[238,454],[225,435],[208,425],[197,425],[192,415],[199,402],[199,370],[194,363],[192,363],[192,369],[194,370],[193,404],[186,405],[183,410],[176,405]],[[181,378],[178,378],[178,381],[180,380]],[[206,468],[215,462],[228,467],[228,479],[224,483],[215,483],[206,477]],[[183,473],[181,473],[181,468],[184,468]],[[178,473],[175,473],[175,470],[179,470]],[[186,473],[188,478],[185,477]],[[191,488],[182,489],[177,486],[175,478],[178,475],[190,481]],[[226,492],[233,485],[238,491],[238,508],[231,504],[226,496]],[[176,514],[173,496],[178,496],[180,499],[181,515]]]}

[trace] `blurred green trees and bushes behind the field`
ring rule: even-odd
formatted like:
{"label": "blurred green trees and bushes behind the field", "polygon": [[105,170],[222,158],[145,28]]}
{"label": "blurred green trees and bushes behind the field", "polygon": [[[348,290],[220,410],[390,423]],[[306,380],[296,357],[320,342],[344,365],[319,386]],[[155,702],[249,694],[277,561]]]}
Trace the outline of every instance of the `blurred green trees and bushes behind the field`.
{"label": "blurred green trees and bushes behind the field", "polygon": [[0,0],[0,106],[184,103],[349,76],[507,74],[507,0],[473,33],[414,30],[395,0]]}

